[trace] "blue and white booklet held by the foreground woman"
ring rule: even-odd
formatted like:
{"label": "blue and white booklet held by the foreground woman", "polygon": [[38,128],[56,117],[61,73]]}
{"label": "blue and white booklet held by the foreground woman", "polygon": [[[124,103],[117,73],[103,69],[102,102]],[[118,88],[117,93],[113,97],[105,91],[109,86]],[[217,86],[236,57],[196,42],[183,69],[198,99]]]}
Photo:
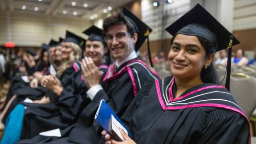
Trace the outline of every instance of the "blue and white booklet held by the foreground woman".
{"label": "blue and white booklet held by the foreground woman", "polygon": [[102,99],[100,101],[98,110],[94,119],[101,125],[101,127],[117,141],[124,141],[119,128],[123,129],[126,134],[132,137],[127,127],[116,116],[110,106]]}

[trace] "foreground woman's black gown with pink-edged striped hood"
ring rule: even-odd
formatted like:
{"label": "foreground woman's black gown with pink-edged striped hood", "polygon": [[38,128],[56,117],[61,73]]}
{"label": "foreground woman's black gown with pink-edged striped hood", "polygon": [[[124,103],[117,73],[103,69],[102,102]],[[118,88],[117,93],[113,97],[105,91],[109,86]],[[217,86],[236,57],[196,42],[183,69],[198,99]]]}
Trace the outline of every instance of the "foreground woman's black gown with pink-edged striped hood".
{"label": "foreground woman's black gown with pink-edged striped hood", "polygon": [[248,143],[247,118],[224,87],[200,84],[175,99],[172,78],[144,85],[121,118],[136,143]]}

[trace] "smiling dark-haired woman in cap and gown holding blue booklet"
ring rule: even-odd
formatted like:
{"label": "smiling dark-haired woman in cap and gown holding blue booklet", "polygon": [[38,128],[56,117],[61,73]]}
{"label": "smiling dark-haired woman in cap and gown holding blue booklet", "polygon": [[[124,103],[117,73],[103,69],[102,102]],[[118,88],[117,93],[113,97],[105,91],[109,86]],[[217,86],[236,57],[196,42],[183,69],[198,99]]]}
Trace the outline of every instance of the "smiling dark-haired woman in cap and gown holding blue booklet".
{"label": "smiling dark-haired woman in cap and gown holding blue booklet", "polygon": [[249,143],[247,117],[228,88],[216,84],[212,66],[214,53],[238,40],[229,43],[231,33],[199,4],[166,31],[174,36],[174,76],[145,84],[125,111],[133,138],[120,130],[125,141],[118,142],[102,131],[105,143]]}

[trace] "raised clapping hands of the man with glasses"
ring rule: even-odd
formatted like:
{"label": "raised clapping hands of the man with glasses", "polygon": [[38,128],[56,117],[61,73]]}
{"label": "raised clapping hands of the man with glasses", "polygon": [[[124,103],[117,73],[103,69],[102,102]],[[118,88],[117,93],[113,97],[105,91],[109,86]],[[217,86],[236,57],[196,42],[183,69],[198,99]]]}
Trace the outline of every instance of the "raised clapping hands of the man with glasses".
{"label": "raised clapping hands of the man with glasses", "polygon": [[100,72],[98,67],[95,66],[91,57],[84,57],[84,59],[82,59],[81,68],[84,83],[86,83],[89,89],[94,85],[99,84]]}

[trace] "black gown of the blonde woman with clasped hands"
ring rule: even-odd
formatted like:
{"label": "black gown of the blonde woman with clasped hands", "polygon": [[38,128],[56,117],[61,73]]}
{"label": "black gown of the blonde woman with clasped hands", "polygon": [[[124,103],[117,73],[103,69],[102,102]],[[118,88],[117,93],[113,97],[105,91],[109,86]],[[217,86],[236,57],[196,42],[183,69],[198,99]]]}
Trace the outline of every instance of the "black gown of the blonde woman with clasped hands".
{"label": "black gown of the blonde woman with clasped hands", "polygon": [[[74,64],[78,65],[76,62]],[[73,83],[75,77],[78,75],[78,70],[74,67],[74,64],[67,68],[61,74],[61,76],[58,77],[62,87],[64,88],[64,91],[61,93],[61,95],[65,93],[74,93]],[[31,138],[39,134],[39,132],[55,129],[58,127],[66,128],[73,120],[73,113],[65,111],[68,106],[59,106],[60,104],[56,94],[54,94],[52,91],[47,91],[46,96],[50,98],[50,104],[34,104],[22,102],[22,104],[26,106],[26,110],[24,114],[23,130],[20,139]],[[72,104],[69,106],[72,107]]]}

